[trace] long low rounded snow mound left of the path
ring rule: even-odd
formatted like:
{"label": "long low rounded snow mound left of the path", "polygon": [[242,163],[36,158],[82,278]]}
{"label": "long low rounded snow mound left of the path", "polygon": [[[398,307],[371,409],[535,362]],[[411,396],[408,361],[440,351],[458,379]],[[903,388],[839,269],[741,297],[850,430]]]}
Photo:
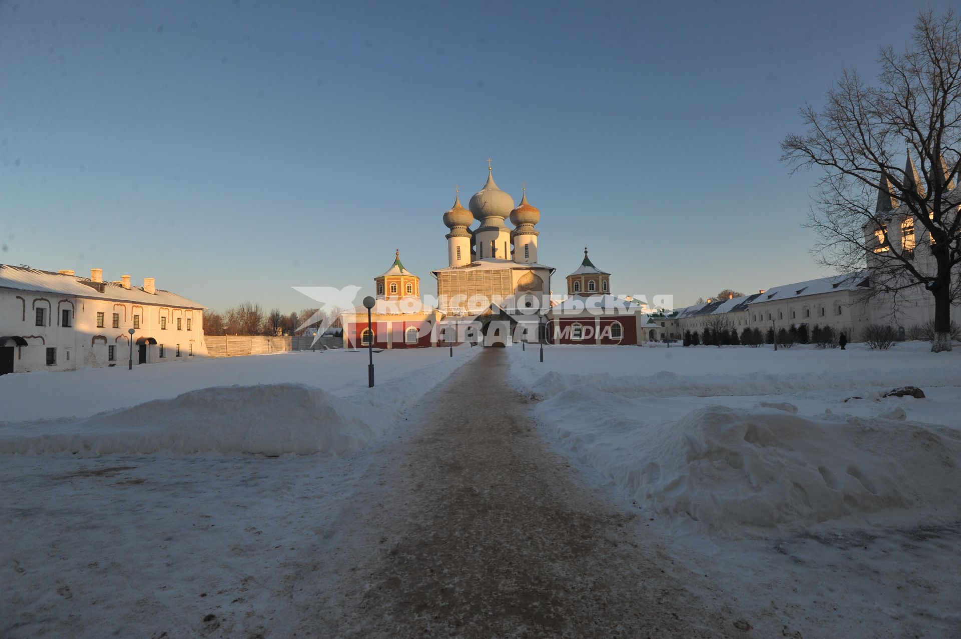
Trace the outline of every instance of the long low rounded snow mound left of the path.
{"label": "long low rounded snow mound left of the path", "polygon": [[360,413],[350,402],[303,384],[204,388],[55,429],[39,423],[0,430],[0,453],[340,455],[368,446],[383,432]]}

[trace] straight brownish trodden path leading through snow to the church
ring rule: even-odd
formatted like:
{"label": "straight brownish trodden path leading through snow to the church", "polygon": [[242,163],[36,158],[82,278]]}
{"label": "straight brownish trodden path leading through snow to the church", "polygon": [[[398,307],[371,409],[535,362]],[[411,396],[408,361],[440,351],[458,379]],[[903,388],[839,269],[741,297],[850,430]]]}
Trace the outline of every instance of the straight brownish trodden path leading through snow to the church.
{"label": "straight brownish trodden path leading through snow to the church", "polygon": [[[343,553],[316,566],[324,583],[308,573],[295,587],[310,620],[301,629],[464,637],[747,629],[686,589],[703,576],[674,565],[636,513],[550,449],[505,382],[505,364],[504,351],[489,349],[460,367],[423,406],[424,426],[370,469],[369,494],[341,514],[352,530]],[[364,546],[373,552],[357,553]]]}

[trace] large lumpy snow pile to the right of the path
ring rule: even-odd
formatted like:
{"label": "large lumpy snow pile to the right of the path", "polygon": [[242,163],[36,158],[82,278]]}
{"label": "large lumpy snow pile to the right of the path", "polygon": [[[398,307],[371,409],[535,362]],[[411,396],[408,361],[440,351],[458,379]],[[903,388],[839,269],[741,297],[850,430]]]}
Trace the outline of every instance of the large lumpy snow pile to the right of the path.
{"label": "large lumpy snow pile to the right of the path", "polygon": [[706,406],[660,423],[641,410],[571,389],[536,411],[563,447],[638,503],[732,536],[895,509],[961,517],[957,430],[901,416],[817,421],[783,403]]}

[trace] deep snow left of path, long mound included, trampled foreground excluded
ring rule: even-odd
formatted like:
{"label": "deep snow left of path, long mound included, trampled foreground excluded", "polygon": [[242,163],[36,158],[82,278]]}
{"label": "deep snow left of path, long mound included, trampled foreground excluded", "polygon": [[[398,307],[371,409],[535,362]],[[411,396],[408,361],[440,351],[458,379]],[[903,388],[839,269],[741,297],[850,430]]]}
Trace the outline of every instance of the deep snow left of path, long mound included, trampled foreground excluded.
{"label": "deep snow left of path, long mound included, trampled foreground excluded", "polygon": [[[369,446],[478,349],[188,360],[0,378],[0,453],[332,453]],[[99,412],[103,411],[103,412]]]}

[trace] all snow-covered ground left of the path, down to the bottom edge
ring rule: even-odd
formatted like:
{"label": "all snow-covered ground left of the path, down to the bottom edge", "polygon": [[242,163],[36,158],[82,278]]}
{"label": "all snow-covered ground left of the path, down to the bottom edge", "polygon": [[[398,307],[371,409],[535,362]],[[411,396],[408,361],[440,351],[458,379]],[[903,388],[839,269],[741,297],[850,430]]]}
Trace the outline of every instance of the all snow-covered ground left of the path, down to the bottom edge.
{"label": "all snow-covered ground left of the path, down to the bottom edge", "polygon": [[479,352],[375,354],[374,389],[351,352],[0,377],[0,636],[292,636],[370,465]]}

